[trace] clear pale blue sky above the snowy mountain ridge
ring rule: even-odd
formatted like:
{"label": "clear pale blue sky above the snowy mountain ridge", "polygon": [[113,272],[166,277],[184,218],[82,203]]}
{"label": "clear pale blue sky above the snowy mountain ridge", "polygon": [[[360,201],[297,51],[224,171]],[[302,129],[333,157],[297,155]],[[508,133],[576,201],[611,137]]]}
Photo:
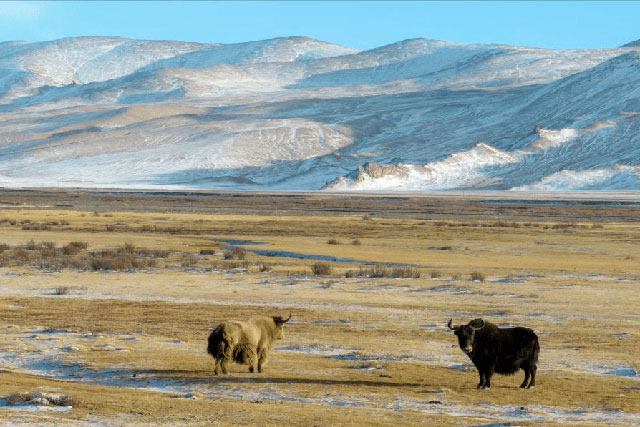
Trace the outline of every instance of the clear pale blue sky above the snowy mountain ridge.
{"label": "clear pale blue sky above the snowy mountain ridge", "polygon": [[547,48],[640,39],[640,2],[5,2],[0,41],[122,36],[233,43],[304,35],[358,49],[413,37]]}

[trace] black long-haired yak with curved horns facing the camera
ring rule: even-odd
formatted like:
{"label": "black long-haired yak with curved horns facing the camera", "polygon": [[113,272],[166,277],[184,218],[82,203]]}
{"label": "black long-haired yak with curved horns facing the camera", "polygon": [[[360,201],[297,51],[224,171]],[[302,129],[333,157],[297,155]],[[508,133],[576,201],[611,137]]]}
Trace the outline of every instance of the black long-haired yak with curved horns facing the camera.
{"label": "black long-haired yak with curved horns facing the camera", "polygon": [[494,372],[512,375],[518,369],[524,371],[524,381],[520,387],[535,386],[540,345],[538,336],[531,329],[499,328],[482,319],[459,326],[452,326],[449,320],[447,326],[454,331],[460,348],[478,369],[479,389],[491,387]]}

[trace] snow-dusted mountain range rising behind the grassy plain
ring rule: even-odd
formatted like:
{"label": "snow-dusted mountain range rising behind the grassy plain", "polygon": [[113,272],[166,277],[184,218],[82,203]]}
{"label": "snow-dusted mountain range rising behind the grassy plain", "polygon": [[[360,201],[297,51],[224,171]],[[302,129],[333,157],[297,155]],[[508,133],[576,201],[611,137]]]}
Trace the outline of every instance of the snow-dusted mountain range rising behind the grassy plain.
{"label": "snow-dusted mountain range rising behind the grassy plain", "polygon": [[4,42],[0,186],[639,190],[640,47]]}

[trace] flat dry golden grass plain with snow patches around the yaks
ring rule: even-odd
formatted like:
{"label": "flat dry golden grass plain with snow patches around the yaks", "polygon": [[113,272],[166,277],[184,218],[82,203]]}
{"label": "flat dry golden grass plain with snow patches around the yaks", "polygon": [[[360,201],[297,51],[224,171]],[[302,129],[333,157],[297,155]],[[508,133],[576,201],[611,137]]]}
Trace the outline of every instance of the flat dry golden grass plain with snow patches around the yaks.
{"label": "flat dry golden grass plain with snow patches around the yaks", "polygon": [[[639,261],[636,205],[0,192],[0,422],[640,425]],[[210,327],[289,313],[212,375]],[[536,331],[535,389],[476,390],[476,317]]]}

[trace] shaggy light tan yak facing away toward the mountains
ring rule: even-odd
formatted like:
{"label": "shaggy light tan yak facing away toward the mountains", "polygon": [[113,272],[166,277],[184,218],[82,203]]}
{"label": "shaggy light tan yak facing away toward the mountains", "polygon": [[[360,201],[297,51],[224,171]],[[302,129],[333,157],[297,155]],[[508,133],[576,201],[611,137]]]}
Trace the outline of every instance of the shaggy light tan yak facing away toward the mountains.
{"label": "shaggy light tan yak facing away toward the mountains", "polygon": [[228,320],[209,335],[207,353],[213,356],[213,373],[228,372],[229,362],[249,365],[249,372],[262,372],[267,353],[275,340],[284,337],[282,326],[291,320],[280,316],[254,316],[246,322]]}

